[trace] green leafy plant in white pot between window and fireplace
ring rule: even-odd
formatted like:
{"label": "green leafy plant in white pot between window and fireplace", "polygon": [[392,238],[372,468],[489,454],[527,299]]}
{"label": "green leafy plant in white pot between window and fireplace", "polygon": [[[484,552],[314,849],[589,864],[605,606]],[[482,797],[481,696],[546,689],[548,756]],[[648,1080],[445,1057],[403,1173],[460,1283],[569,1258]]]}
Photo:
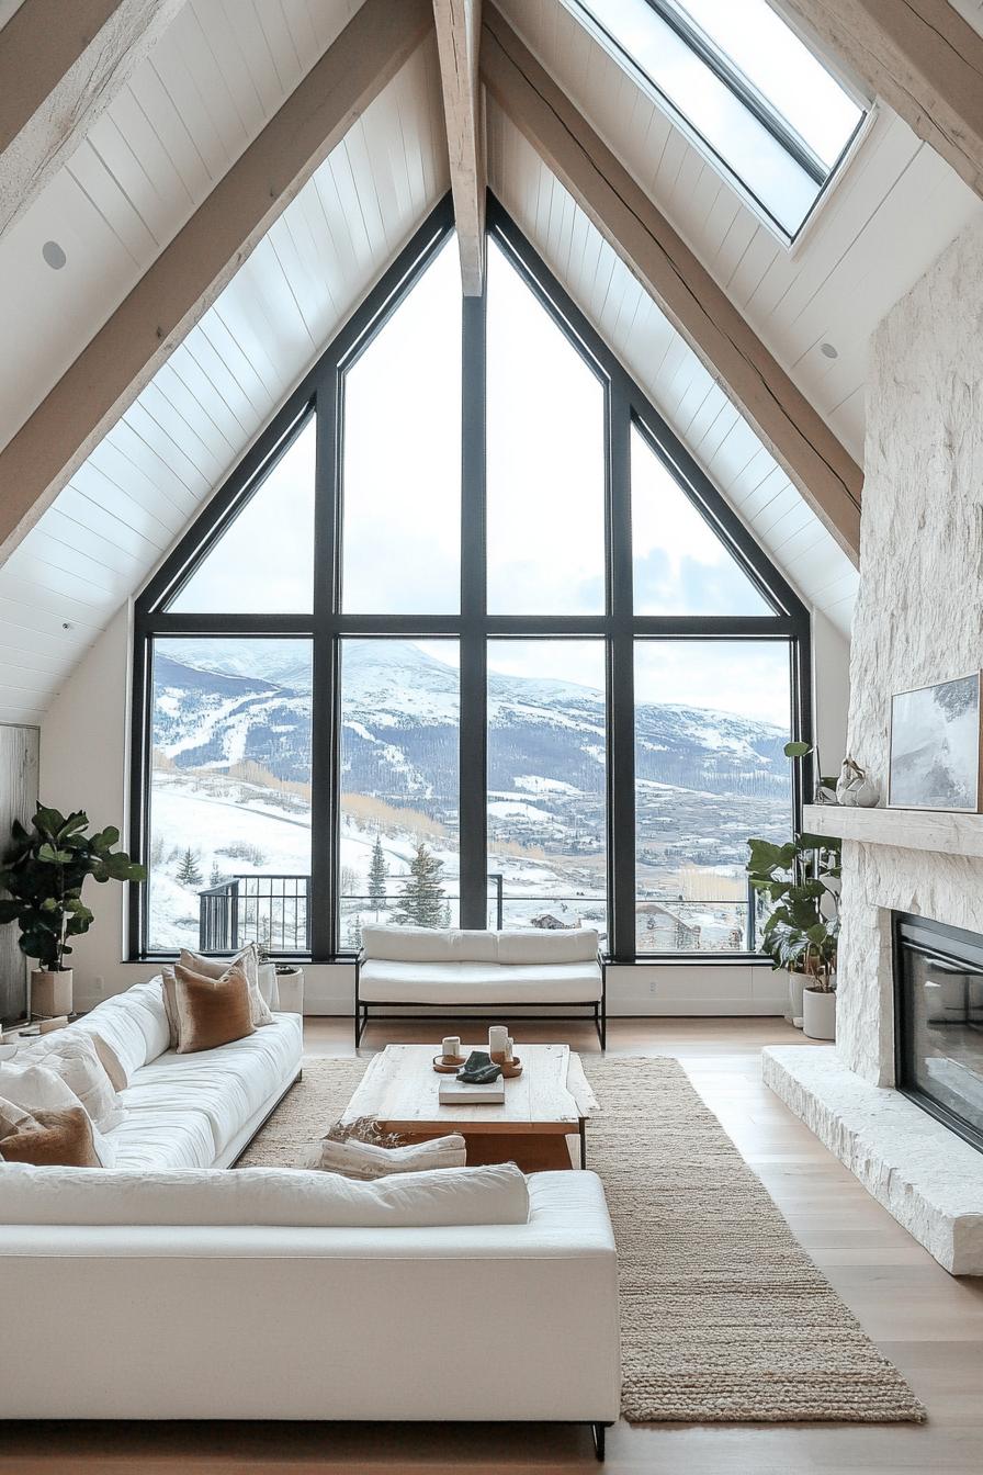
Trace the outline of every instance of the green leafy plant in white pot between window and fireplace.
{"label": "green leafy plant in white pot between window and fireplace", "polygon": [[788,971],[793,1021],[814,1040],[836,1034],[842,841],[796,835],[784,845],[750,839],[747,875],[766,903],[762,951]]}

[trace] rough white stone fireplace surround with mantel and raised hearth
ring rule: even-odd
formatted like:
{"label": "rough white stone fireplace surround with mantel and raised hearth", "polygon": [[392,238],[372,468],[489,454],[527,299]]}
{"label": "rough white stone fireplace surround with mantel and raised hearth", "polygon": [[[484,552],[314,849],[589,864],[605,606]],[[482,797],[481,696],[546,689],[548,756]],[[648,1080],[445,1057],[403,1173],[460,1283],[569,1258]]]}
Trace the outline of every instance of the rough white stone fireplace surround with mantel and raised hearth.
{"label": "rough white stone fireplace surround with mantel and raised hearth", "polygon": [[[872,341],[847,749],[881,792],[892,696],[983,665],[982,323],[977,221]],[[983,816],[811,808],[816,827],[844,842],[837,1043],[765,1052],[765,1080],[948,1270],[982,1274],[983,1152],[895,1089],[895,943],[898,914],[983,934]]]}

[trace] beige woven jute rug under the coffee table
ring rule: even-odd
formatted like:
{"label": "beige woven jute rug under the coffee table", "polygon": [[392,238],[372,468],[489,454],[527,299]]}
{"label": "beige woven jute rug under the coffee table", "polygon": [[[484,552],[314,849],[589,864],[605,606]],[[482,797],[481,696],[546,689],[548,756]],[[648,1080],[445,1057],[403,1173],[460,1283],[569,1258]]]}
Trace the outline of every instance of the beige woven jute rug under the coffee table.
{"label": "beige woven jute rug under the coffee table", "polygon": [[[634,1423],[921,1422],[898,1369],[796,1242],[678,1061],[591,1061],[587,1128],[620,1267]],[[308,1059],[240,1159],[292,1167],[340,1115],[361,1061]]]}

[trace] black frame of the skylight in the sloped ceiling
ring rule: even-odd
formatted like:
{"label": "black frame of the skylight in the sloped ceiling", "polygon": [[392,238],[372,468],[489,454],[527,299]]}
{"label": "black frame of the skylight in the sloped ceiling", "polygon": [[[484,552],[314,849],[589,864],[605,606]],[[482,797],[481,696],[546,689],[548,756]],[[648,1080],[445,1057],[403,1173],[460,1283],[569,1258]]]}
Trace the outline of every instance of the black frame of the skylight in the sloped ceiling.
{"label": "black frame of the skylight in the sloped ceiling", "polygon": [[[788,153],[790,158],[793,158],[796,164],[818,186],[816,196],[809,209],[806,211],[806,214],[803,215],[799,227],[794,232],[788,232],[788,229],[783,226],[783,223],[775,217],[774,211],[768,208],[768,205],[763,202],[760,195],[752,187],[752,184],[741,174],[738,174],[738,171],[731,164],[728,164],[725,158],[722,158],[718,149],[713,148],[706,134],[697,127],[694,119],[690,118],[679,108],[678,103],[675,103],[671,97],[666,96],[659,83],[641,65],[638,58],[632,56],[631,52],[628,52],[620,44],[618,37],[607,30],[604,22],[594,13],[592,9],[590,9],[590,0],[584,6],[581,6],[581,0],[576,0],[576,4],[578,9],[581,9],[582,13],[590,18],[591,24],[597,27],[598,31],[603,31],[609,47],[612,49],[612,52],[615,52],[618,56],[622,58],[623,63],[626,63],[626,69],[644,78],[646,86],[651,88],[651,91],[659,97],[662,108],[669,114],[669,117],[679,119],[684,130],[691,133],[696,139],[700,140],[700,146],[703,148],[706,155],[716,162],[721,176],[725,180],[732,181],[740,190],[740,193],[746,195],[750,201],[753,201],[758,212],[771,224],[771,227],[777,232],[777,235],[784,242],[787,242],[787,245],[791,246],[799,239],[808,223],[812,220],[812,215],[818,209],[822,196],[828,190],[833,178],[843,165],[843,161],[846,159],[853,145],[856,143],[856,139],[861,134],[870,117],[870,105],[861,103],[856,97],[853,99],[858,108],[861,109],[861,117],[858,118],[853,131],[850,133],[849,139],[840,149],[839,155],[827,170],[822,159],[818,158],[818,155],[809,148],[805,139],[802,139],[799,133],[788,125],[788,122],[781,117],[781,114],[771,106],[766,97],[762,96],[758,87],[755,87],[755,84],[750,83],[747,77],[744,77],[743,71],[721,52],[721,49],[710,40],[710,37],[704,34],[703,30],[700,30],[699,25],[696,25],[687,15],[676,10],[676,7],[668,3],[668,0],[646,0],[648,9],[653,10],[659,16],[659,19],[663,21],[679,37],[679,40],[690,47],[690,50],[696,56],[700,58],[700,60],[718,78],[718,81],[721,81],[728,88],[728,91],[734,97],[737,97],[737,100],[752,114],[752,117],[756,118],[756,121],[760,122],[760,125],[768,130],[775,143],[778,143],[780,148],[783,148],[786,153]],[[819,58],[816,58],[816,60],[819,60]],[[824,60],[821,62],[821,65],[827,71],[830,71],[830,68]]]}

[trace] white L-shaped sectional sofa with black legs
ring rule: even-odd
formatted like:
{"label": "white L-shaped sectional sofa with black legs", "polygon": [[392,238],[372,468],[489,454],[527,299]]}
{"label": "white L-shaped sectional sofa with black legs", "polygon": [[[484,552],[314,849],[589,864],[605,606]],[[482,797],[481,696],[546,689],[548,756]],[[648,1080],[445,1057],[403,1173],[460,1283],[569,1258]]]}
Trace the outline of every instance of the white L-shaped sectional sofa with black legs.
{"label": "white L-shaped sectional sofa with black legs", "polygon": [[296,1078],[301,1018],[178,1056],[153,981],[80,1027],[125,1063],[127,1117],[112,1168],[0,1164],[0,1419],[569,1420],[603,1451],[592,1173],[220,1171]]}

